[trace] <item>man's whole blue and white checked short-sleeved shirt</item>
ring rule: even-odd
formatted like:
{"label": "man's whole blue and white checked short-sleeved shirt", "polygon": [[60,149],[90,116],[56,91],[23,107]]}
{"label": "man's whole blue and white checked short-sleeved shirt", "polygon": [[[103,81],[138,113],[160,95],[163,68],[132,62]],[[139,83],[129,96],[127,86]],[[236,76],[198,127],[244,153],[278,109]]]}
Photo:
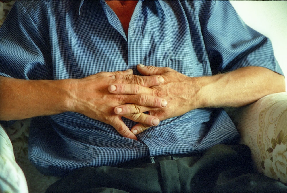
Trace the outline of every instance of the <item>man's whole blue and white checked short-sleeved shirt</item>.
{"label": "man's whole blue and white checked short-sleeved shirt", "polygon": [[[250,65],[282,74],[269,39],[243,24],[228,1],[139,1],[128,37],[104,1],[21,1],[6,21],[0,29],[0,75],[7,77],[82,78],[136,72],[139,63],[192,77]],[[238,136],[226,112],[213,108],[162,121],[139,134],[139,141],[73,112],[34,118],[30,129],[30,159],[52,175],[202,151]]]}

